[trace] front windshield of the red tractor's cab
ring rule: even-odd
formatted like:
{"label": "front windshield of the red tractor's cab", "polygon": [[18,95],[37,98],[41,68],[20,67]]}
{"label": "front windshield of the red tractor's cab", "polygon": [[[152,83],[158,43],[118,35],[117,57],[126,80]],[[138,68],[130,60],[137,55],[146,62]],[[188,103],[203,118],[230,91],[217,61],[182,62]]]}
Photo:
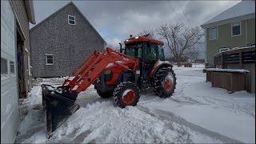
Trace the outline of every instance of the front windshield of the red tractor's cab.
{"label": "front windshield of the red tractor's cab", "polygon": [[134,58],[142,58],[142,42],[126,45],[126,54]]}

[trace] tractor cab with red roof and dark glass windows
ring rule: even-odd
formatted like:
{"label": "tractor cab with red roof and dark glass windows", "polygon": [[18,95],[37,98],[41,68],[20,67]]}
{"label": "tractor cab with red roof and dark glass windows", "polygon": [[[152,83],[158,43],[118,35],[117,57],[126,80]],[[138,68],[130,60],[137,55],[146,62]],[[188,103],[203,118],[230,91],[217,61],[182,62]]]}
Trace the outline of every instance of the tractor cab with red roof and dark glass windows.
{"label": "tractor cab with red roof and dark glass windows", "polygon": [[148,78],[150,70],[156,62],[164,61],[163,42],[146,36],[129,38],[125,41],[124,54],[138,58],[141,66],[142,78]]}

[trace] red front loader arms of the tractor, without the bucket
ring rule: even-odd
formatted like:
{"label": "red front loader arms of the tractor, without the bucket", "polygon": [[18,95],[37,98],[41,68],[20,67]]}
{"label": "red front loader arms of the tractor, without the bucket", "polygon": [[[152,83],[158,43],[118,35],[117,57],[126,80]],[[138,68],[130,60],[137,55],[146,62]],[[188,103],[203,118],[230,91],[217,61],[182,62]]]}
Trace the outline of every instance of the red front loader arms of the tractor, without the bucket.
{"label": "red front loader arms of the tractor, without the bucket", "polygon": [[115,65],[122,66],[127,70],[130,70],[129,67],[124,66],[121,62],[119,63],[117,61],[134,63],[133,69],[131,70],[133,73],[135,73],[136,66],[139,64],[138,58],[130,57],[129,55],[119,53],[110,49],[110,47],[107,47],[102,53],[94,51],[90,54],[90,56],[72,72],[72,74],[75,74],[75,77],[72,80],[66,79],[62,86],[66,86],[66,83],[68,82],[67,86],[69,86],[70,93],[74,90],[75,86],[78,86],[76,92],[79,94],[94,83],[110,63],[114,63]]}

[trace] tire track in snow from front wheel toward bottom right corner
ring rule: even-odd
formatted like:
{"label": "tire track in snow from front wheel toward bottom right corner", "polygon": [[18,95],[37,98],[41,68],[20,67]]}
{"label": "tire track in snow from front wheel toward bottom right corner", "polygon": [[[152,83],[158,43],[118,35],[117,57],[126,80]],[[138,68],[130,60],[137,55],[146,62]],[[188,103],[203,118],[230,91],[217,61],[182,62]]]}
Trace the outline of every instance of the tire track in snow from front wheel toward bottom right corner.
{"label": "tire track in snow from front wheel toward bottom right corner", "polygon": [[241,141],[238,141],[234,138],[227,137],[222,134],[218,134],[214,131],[207,130],[203,128],[202,126],[198,126],[192,122],[188,122],[185,118],[179,117],[178,115],[170,112],[170,111],[164,111],[164,110],[157,110],[157,109],[150,109],[146,106],[137,106],[138,110],[144,111],[146,114],[150,114],[154,117],[161,118],[163,120],[176,122],[181,126],[187,126],[190,128],[190,130],[197,131],[198,133],[205,134],[213,139],[218,139],[224,143],[244,143]]}

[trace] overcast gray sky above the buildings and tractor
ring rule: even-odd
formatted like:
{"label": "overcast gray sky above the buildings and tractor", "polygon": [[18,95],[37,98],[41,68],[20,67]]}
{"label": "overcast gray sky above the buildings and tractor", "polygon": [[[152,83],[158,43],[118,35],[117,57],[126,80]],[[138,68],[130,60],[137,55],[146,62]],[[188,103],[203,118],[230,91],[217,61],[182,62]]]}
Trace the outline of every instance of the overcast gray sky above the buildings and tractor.
{"label": "overcast gray sky above the buildings and tractor", "polygon": [[[41,22],[68,2],[34,1],[36,22]],[[118,46],[118,42],[123,42],[130,34],[154,29],[164,23],[183,22],[186,26],[200,26],[241,1],[73,2],[107,43]]]}

